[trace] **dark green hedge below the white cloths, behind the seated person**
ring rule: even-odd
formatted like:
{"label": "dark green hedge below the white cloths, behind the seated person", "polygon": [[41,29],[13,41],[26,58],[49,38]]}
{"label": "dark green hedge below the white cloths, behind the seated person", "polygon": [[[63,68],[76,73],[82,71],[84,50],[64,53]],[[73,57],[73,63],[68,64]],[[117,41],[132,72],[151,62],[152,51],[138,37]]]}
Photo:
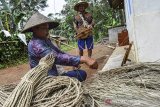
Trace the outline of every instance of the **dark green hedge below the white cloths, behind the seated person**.
{"label": "dark green hedge below the white cloths, behind the seated person", "polygon": [[[29,39],[30,37],[27,37],[27,41]],[[21,64],[27,59],[27,46],[19,40],[16,34],[11,37],[0,34],[0,68]]]}

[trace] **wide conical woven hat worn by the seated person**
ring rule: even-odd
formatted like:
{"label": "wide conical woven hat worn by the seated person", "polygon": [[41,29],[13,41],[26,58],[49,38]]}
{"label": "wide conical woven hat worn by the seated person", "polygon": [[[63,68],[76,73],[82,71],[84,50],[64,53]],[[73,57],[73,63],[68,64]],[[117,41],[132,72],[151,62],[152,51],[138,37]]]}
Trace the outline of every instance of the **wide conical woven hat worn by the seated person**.
{"label": "wide conical woven hat worn by the seated person", "polygon": [[49,24],[49,29],[55,28],[59,25],[58,22],[54,22],[53,20],[37,12],[31,16],[31,18],[28,20],[28,22],[26,23],[25,27],[23,28],[21,32],[22,33],[32,32],[31,28],[44,24],[44,23]]}

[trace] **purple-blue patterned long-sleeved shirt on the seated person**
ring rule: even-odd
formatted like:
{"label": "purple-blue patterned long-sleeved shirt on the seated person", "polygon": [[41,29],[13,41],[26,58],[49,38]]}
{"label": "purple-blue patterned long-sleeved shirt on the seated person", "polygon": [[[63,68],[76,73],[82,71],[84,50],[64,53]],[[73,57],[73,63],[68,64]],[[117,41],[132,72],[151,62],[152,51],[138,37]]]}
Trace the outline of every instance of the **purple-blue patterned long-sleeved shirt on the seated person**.
{"label": "purple-blue patterned long-sleeved shirt on the seated person", "polygon": [[56,64],[76,67],[80,63],[80,56],[73,56],[62,52],[52,44],[50,39],[43,40],[33,37],[28,44],[30,67],[37,66],[39,60],[49,53],[55,55],[55,62],[52,69],[48,71],[48,75],[58,75]]}

